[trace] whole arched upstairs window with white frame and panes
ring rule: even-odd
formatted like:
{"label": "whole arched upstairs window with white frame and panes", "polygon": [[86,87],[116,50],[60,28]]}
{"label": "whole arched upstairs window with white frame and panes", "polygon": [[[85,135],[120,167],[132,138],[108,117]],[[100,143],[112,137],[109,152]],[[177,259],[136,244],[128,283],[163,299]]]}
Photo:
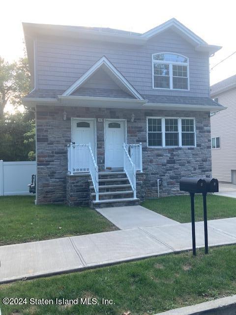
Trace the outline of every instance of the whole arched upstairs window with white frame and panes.
{"label": "whole arched upstairs window with white frame and panes", "polygon": [[189,90],[188,58],[172,53],[152,55],[153,89]]}

